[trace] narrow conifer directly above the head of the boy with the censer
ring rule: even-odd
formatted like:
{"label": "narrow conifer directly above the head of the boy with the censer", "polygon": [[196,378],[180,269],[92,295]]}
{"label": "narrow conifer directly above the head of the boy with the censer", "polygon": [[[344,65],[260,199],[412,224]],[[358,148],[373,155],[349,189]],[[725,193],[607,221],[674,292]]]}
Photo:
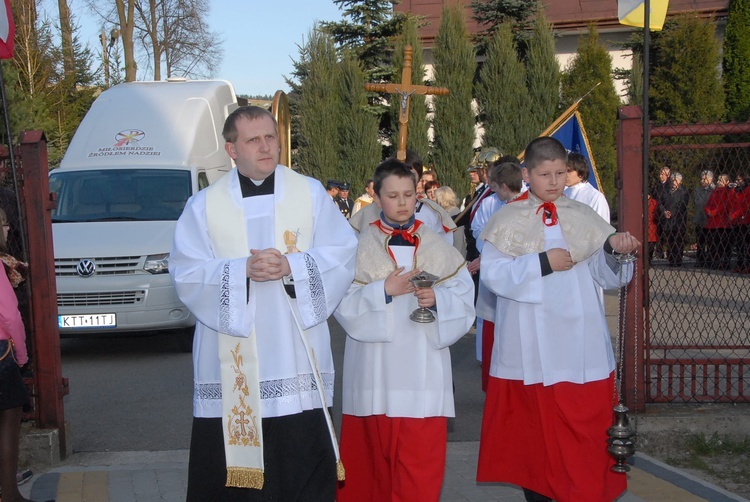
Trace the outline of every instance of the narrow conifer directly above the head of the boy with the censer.
{"label": "narrow conifer directly above the head of the boy with the censer", "polygon": [[555,120],[560,103],[560,66],[555,56],[555,37],[543,12],[534,21],[528,43],[526,85],[529,103],[533,106],[528,109],[531,136],[522,138],[524,143],[537,137]]}

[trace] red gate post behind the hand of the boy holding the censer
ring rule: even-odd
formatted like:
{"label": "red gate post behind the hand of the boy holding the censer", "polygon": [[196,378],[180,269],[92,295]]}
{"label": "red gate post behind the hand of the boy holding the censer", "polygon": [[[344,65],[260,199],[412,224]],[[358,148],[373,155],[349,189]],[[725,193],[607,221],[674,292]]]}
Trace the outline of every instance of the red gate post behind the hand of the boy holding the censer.
{"label": "red gate post behind the hand of the boy holding the censer", "polygon": [[[617,188],[618,225],[620,231],[628,231],[638,237],[641,247],[638,250],[633,280],[627,288],[626,305],[620,305],[620,313],[625,316],[625,350],[622,356],[621,392],[625,405],[637,412],[645,411],[645,374],[643,361],[645,306],[648,305],[648,276],[644,273],[648,260],[648,227],[644,225],[643,193],[643,112],[639,106],[623,106],[619,109],[620,127],[617,135]],[[647,213],[646,213],[647,214]],[[636,292],[635,286],[638,284]],[[638,305],[635,304],[636,296]],[[619,329],[619,326],[618,326]]]}

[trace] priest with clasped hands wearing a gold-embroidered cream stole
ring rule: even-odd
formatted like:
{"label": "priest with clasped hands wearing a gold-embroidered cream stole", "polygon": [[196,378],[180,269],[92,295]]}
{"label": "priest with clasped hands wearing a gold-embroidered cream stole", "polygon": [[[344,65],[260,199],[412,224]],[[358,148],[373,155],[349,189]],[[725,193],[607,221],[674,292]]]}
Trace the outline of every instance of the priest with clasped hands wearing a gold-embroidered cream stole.
{"label": "priest with clasped hands wearing a gold-embroidered cream stole", "polygon": [[188,201],[169,271],[197,319],[188,501],[333,500],[326,320],[357,239],[323,186],[278,165],[273,115],[232,112],[236,168]]}

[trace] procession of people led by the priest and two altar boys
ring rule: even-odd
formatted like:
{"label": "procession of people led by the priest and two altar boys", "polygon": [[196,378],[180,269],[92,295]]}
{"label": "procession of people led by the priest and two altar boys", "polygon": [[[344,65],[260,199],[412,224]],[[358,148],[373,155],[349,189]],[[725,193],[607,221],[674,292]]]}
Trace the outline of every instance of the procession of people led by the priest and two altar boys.
{"label": "procession of people led by the priest and two altar boys", "polygon": [[[563,197],[562,145],[535,140],[523,167],[486,153],[462,202],[407,151],[344,207],[348,185],[278,165],[275,128],[261,108],[229,116],[236,167],[191,197],[175,230],[169,272],[197,318],[187,499],[439,500],[450,346],[477,313],[488,327],[477,479],[534,501],[620,495],[597,288],[630,280],[617,256],[640,243]],[[331,315],[347,333],[340,443]],[[559,469],[563,453],[587,462]]]}

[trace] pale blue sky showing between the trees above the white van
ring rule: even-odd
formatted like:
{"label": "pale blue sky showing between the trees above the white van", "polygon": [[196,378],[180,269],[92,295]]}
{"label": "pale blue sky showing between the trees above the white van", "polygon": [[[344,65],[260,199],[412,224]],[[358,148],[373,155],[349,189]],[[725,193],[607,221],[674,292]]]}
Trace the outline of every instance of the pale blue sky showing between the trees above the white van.
{"label": "pale blue sky showing between the trees above the white van", "polygon": [[[213,78],[231,82],[238,95],[288,92],[284,75],[291,76],[293,60],[299,59],[298,46],[307,40],[315,21],[341,19],[341,11],[332,0],[209,1],[208,25],[224,39],[224,59]],[[101,18],[85,0],[68,2],[81,27],[82,41],[88,41],[94,53],[101,52]],[[56,20],[57,2],[45,0],[44,4]],[[108,26],[106,31],[110,29]]]}

